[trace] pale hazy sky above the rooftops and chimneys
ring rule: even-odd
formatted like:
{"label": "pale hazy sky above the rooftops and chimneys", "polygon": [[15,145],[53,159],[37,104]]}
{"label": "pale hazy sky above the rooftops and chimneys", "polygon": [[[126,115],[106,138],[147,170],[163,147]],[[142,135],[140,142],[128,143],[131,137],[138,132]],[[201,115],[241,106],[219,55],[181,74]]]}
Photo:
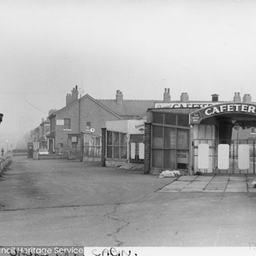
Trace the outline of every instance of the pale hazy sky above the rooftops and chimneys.
{"label": "pale hazy sky above the rooftops and chimneys", "polygon": [[[0,140],[80,94],[256,101],[254,0],[1,0]],[[0,146],[1,146],[0,141]]]}

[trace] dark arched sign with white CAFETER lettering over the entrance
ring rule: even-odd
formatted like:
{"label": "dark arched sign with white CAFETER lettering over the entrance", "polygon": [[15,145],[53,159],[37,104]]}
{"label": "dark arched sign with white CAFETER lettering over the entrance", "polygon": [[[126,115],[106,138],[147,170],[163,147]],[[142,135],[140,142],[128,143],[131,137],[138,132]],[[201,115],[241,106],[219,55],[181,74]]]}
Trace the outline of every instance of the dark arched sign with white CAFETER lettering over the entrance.
{"label": "dark arched sign with white CAFETER lettering over the entrance", "polygon": [[221,115],[251,115],[256,118],[256,104],[246,102],[225,102],[194,111],[189,114],[189,123],[198,124],[204,119]]}

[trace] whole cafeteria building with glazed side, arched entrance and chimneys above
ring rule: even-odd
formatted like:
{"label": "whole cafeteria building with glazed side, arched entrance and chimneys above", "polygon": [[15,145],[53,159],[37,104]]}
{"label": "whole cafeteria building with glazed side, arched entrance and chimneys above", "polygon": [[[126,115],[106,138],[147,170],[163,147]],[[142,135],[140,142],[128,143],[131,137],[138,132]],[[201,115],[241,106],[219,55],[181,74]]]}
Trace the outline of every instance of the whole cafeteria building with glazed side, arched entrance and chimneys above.
{"label": "whole cafeteria building with glazed side, arched entrance and chimneys above", "polygon": [[250,94],[234,93],[233,101],[211,97],[190,101],[182,93],[179,101],[169,97],[147,110],[145,174],[255,174],[256,103]]}

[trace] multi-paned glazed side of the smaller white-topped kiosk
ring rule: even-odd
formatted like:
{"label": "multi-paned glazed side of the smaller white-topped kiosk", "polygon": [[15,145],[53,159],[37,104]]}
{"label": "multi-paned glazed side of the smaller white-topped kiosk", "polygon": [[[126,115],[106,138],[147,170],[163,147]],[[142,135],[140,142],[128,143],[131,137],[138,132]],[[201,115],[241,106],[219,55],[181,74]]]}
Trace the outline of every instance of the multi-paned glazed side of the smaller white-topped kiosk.
{"label": "multi-paned glazed side of the smaller white-topped kiosk", "polygon": [[106,131],[106,136],[106,157],[115,159],[126,159],[126,134]]}

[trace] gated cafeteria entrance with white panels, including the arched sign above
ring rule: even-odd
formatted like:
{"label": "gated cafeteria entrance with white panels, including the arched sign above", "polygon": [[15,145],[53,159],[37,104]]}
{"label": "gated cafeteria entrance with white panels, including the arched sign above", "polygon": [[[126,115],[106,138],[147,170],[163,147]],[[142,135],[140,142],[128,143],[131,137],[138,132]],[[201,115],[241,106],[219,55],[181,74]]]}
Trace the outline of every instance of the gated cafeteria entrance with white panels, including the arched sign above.
{"label": "gated cafeteria entrance with white panels, including the arched sign above", "polygon": [[194,172],[255,174],[255,113],[251,103],[222,103],[191,113]]}

